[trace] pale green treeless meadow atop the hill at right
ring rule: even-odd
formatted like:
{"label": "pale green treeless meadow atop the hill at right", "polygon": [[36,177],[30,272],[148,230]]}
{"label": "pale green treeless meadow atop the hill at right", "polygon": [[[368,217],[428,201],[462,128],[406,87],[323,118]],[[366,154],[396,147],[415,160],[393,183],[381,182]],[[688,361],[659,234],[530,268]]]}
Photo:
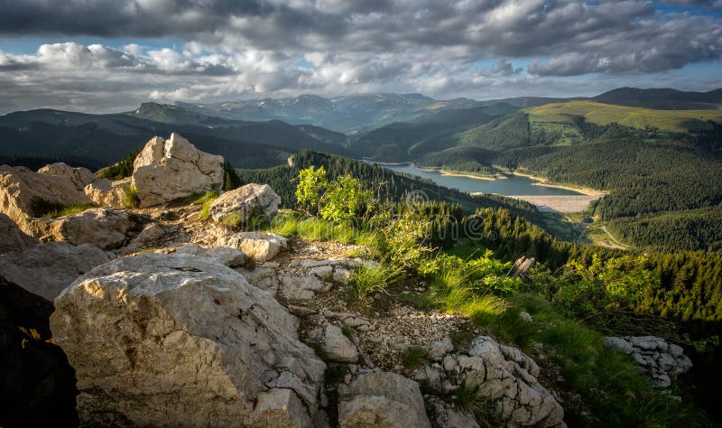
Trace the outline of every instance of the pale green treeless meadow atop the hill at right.
{"label": "pale green treeless meadow atop the hill at right", "polygon": [[693,123],[713,120],[722,122],[722,109],[717,110],[653,110],[641,107],[614,106],[593,101],[569,101],[547,104],[527,110],[532,124],[573,124],[573,116],[583,116],[589,123],[643,128],[654,126],[662,131],[688,132]]}

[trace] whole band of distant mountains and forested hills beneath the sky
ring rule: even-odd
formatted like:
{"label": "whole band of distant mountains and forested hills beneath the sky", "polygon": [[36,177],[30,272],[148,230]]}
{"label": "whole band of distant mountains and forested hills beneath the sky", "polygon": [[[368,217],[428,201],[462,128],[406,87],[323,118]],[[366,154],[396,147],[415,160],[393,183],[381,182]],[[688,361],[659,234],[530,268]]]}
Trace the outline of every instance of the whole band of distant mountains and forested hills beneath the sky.
{"label": "whole band of distant mountains and forested hills beneath the sky", "polygon": [[[530,172],[607,191],[592,216],[627,242],[722,248],[722,228],[708,224],[722,215],[722,89],[617,88],[593,98],[486,101],[304,95],[147,102],[106,115],[38,109],[0,116],[0,161],[35,164],[27,159],[33,157],[100,168],[171,132],[238,168],[272,167],[309,149],[450,172]],[[657,232],[667,229],[679,233]]]}

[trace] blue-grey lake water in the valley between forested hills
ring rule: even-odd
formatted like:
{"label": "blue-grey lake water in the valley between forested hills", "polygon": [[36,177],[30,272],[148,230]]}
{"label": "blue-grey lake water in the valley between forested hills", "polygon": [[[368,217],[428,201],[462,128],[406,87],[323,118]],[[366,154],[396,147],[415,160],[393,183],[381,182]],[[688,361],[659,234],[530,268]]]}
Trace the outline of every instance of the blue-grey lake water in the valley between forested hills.
{"label": "blue-grey lake water in the valley between forested hills", "polygon": [[458,189],[459,191],[482,191],[484,193],[498,193],[500,195],[535,195],[535,196],[560,196],[560,195],[579,195],[577,191],[569,191],[556,187],[535,186],[535,182],[527,177],[518,175],[509,175],[505,179],[496,180],[478,180],[468,177],[455,177],[452,175],[442,175],[435,171],[421,171],[416,166],[404,164],[377,163],[379,166],[388,168],[395,172],[406,172],[408,174],[417,175],[422,178],[430,179],[440,186],[449,189]]}

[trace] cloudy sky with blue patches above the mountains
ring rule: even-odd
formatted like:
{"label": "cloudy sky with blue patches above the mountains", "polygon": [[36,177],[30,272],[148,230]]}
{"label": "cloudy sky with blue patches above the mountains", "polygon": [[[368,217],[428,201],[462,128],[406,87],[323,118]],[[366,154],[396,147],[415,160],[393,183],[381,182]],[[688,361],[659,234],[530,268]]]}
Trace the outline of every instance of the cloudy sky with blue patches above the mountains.
{"label": "cloudy sky with blue patches above the mountains", "polygon": [[722,88],[722,0],[0,0],[0,114]]}

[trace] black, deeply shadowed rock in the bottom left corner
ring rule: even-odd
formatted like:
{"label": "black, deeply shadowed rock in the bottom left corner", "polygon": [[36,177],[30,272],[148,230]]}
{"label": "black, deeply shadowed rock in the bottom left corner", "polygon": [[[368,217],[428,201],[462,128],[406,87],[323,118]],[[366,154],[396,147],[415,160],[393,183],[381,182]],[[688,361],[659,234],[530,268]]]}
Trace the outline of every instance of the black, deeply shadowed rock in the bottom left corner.
{"label": "black, deeply shadowed rock in the bottom left corner", "polygon": [[0,278],[2,426],[79,425],[75,373],[62,349],[46,341],[52,311],[51,302]]}

